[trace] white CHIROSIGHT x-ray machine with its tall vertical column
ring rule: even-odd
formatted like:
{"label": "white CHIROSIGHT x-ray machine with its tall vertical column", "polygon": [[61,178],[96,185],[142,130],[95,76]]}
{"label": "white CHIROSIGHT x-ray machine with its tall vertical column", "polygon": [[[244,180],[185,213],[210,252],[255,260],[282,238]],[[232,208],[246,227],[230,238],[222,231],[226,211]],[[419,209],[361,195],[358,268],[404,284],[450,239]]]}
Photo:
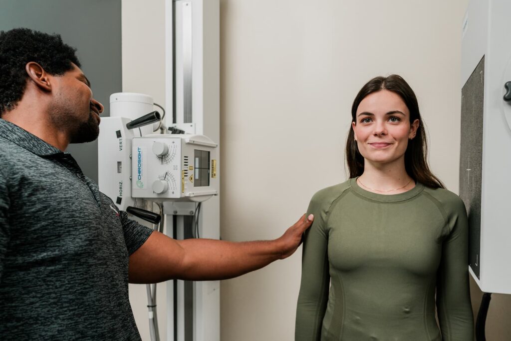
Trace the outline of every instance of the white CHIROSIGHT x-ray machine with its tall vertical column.
{"label": "white CHIROSIGHT x-ray machine with its tall vertical column", "polygon": [[[173,238],[219,239],[219,0],[165,5],[166,110],[155,110],[148,95],[110,96],[99,137],[99,185],[122,210],[160,226],[163,215]],[[148,202],[160,212],[144,211]],[[151,307],[149,317],[151,338],[159,340]],[[166,339],[220,340],[219,281],[167,283]]]}

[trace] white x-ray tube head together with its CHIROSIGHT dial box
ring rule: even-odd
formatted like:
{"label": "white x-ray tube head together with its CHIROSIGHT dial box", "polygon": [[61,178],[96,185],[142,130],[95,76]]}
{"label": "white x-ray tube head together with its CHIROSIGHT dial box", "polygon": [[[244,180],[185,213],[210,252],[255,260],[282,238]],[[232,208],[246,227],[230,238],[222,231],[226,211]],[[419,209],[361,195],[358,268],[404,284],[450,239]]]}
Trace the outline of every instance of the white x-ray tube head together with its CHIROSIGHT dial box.
{"label": "white x-ray tube head together with its CHIROSIGHT dial box", "polygon": [[[218,194],[215,142],[197,134],[152,134],[157,123],[126,128],[154,110],[153,99],[144,94],[112,94],[110,108],[110,117],[101,120],[98,138],[99,186],[120,210],[135,206],[137,198],[198,202]],[[197,152],[207,160],[197,158]]]}

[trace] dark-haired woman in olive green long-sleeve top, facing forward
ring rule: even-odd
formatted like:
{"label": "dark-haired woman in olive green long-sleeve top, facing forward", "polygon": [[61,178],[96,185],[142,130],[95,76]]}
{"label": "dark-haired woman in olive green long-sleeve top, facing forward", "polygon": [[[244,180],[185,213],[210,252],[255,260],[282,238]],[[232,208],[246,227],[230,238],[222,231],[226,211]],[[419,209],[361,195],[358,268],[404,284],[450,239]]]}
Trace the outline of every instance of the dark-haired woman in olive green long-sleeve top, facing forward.
{"label": "dark-haired woman in olive green long-sleeve top, facing forward", "polygon": [[308,209],[296,340],[473,339],[467,214],[426,154],[413,90],[371,79],[352,107],[350,179]]}

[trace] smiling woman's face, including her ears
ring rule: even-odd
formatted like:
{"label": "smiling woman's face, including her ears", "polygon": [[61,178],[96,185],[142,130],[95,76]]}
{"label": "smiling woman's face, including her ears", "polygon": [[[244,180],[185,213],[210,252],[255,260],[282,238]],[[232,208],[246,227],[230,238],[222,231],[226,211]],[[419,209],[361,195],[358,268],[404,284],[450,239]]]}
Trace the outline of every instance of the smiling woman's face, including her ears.
{"label": "smiling woman's face, including her ears", "polygon": [[419,120],[410,125],[410,112],[399,95],[381,90],[366,96],[352,122],[358,150],[376,164],[404,161],[408,139],[415,137]]}

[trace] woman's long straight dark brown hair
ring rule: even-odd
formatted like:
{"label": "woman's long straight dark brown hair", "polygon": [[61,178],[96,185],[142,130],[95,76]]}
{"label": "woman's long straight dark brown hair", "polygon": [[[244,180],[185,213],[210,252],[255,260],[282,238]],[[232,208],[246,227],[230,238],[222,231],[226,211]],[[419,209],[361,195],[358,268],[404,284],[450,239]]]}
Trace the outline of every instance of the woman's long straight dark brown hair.
{"label": "woman's long straight dark brown hair", "polygon": [[[356,121],[357,109],[362,100],[381,90],[389,90],[401,97],[410,111],[410,125],[413,121],[419,120],[419,128],[417,128],[416,136],[412,140],[408,140],[408,147],[405,151],[405,169],[408,175],[415,180],[430,188],[445,188],[433,173],[431,173],[428,163],[428,144],[426,141],[426,133],[422,122],[421,113],[419,112],[419,104],[408,83],[398,75],[390,75],[388,77],[375,77],[368,81],[359,91],[352,105],[352,121]],[[362,175],[364,172],[364,157],[360,154],[355,141],[355,132],[350,127],[348,138],[346,141],[346,163],[350,170],[350,177]]]}

